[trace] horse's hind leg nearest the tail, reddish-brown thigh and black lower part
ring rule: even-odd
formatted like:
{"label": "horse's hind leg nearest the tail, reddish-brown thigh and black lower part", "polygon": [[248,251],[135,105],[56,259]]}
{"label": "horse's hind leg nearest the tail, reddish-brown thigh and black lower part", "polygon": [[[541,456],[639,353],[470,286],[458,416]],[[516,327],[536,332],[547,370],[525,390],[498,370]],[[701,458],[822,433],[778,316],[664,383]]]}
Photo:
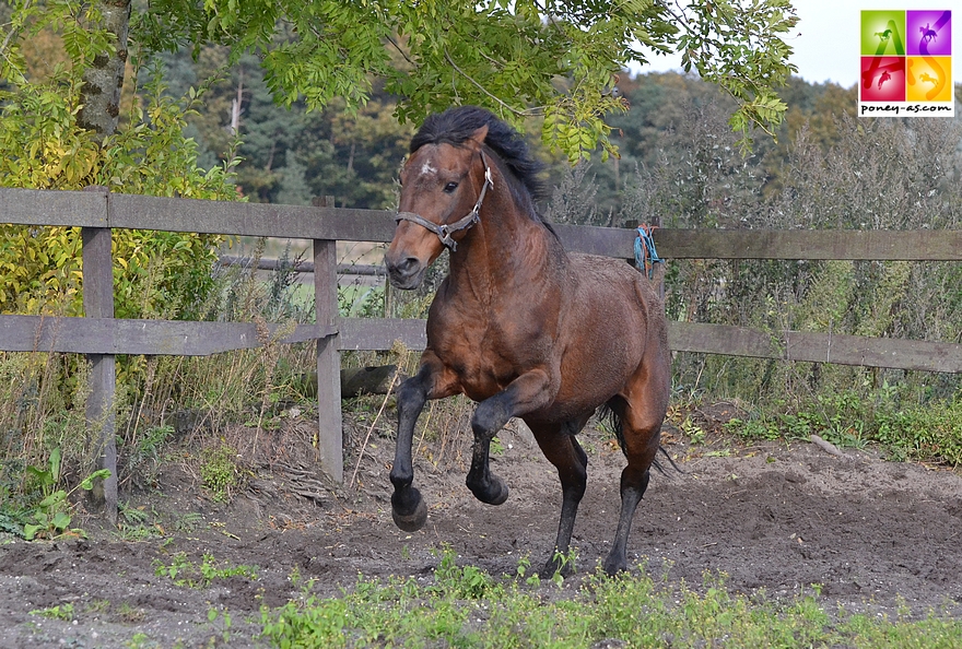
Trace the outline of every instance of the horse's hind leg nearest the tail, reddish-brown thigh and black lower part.
{"label": "horse's hind leg nearest the tail, reddish-brown thigh and black lower part", "polygon": [[[667,364],[664,370],[643,370],[633,377],[627,398],[615,397],[609,405],[622,424],[622,450],[627,467],[621,472],[621,514],[611,552],[605,559],[605,571],[614,575],[627,569],[625,548],[632,519],[645,489],[650,468],[658,452],[661,422],[668,408],[670,384]],[[664,376],[662,376],[664,375]]]}

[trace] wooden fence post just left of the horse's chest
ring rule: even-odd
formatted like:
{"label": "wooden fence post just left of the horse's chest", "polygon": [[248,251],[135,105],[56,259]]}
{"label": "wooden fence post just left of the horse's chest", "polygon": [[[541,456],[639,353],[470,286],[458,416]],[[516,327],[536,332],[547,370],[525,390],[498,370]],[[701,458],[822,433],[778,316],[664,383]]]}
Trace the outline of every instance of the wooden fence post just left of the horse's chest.
{"label": "wooden fence post just left of the horse's chest", "polygon": [[[314,199],[318,208],[332,206],[330,197]],[[318,328],[337,324],[337,241],[314,239],[314,298]],[[337,333],[317,339],[317,424],[320,465],[344,482],[344,439],[341,418],[341,354]]]}

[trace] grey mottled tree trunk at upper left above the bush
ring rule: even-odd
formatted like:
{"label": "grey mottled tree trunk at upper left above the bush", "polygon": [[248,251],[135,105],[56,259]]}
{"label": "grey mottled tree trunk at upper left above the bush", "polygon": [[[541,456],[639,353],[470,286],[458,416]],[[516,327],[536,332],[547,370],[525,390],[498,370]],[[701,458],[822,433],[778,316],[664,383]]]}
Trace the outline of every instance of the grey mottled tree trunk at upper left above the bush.
{"label": "grey mottled tree trunk at upper left above the bush", "polygon": [[78,125],[96,133],[99,142],[117,129],[120,114],[120,88],[127,64],[127,30],[130,24],[130,0],[95,0],[102,20],[92,28],[106,30],[116,37],[114,51],[98,54],[83,73],[83,107]]}

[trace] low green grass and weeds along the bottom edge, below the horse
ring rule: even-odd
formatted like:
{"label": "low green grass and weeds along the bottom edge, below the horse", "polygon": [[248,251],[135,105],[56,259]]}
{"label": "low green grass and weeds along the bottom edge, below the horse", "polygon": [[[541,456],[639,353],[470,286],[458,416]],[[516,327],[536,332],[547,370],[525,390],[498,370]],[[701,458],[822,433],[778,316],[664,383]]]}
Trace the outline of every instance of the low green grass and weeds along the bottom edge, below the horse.
{"label": "low green grass and weeds along the bottom edge, below the horse", "polygon": [[[524,562],[523,562],[524,565]],[[520,567],[520,566],[519,566]],[[342,597],[310,594],[263,607],[262,638],[273,647],[578,648],[625,647],[959,647],[962,622],[826,611],[818,589],[789,600],[729,591],[723,578],[701,588],[641,575],[570,583],[493,577],[457,566],[445,552],[433,579],[359,578]]]}

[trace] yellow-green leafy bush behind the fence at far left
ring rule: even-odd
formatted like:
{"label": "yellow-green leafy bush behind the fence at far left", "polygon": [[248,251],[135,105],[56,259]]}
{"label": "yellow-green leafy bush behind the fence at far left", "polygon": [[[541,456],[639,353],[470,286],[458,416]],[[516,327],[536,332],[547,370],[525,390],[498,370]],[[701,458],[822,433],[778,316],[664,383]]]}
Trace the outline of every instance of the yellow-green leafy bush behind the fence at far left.
{"label": "yellow-green leafy bush behind the fence at far left", "polygon": [[[9,70],[8,70],[9,71]],[[79,190],[96,185],[121,193],[237,199],[231,161],[212,169],[197,164],[197,144],[184,134],[200,97],[183,104],[165,94],[157,71],[133,103],[128,120],[99,148],[77,125],[80,102],[74,69],[48,81],[11,84],[0,93],[0,184]],[[12,80],[8,78],[8,82]],[[58,95],[51,86],[64,88]],[[38,110],[43,98],[50,110]],[[0,311],[43,312],[70,305],[82,312],[80,229],[0,225]],[[221,237],[117,231],[114,238],[115,311],[118,317],[192,317],[210,291],[210,269]]]}

